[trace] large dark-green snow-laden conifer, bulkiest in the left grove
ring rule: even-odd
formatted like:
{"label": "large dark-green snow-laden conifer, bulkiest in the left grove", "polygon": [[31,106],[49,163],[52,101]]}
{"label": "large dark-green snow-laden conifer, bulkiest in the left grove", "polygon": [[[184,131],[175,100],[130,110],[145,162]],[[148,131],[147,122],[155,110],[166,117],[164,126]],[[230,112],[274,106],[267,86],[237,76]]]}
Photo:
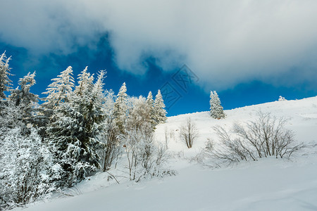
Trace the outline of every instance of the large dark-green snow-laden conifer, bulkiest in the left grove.
{"label": "large dark-green snow-laden conifer, bulkiest in the left grove", "polygon": [[97,82],[87,73],[87,68],[78,76],[79,82],[68,101],[61,102],[54,113],[54,122],[46,129],[49,141],[58,149],[66,185],[77,181],[100,167],[97,148],[101,144],[98,136],[104,120],[102,113],[103,79],[101,71]]}

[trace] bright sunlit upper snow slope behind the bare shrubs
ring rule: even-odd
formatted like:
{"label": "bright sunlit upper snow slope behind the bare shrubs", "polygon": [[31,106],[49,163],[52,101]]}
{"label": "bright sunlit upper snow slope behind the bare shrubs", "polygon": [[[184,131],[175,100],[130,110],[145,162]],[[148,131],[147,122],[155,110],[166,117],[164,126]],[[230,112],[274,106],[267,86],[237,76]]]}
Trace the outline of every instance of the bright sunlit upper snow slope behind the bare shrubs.
{"label": "bright sunlit upper snow slope behind the bare shrubs", "polygon": [[[230,129],[235,122],[255,120],[259,111],[289,119],[286,127],[294,130],[297,140],[304,142],[317,141],[317,97],[297,101],[275,101],[256,106],[225,110],[227,117],[224,120],[211,118],[209,112],[168,117],[166,124],[160,124],[156,129],[156,139],[162,142],[166,141],[167,133],[169,149],[171,151],[181,151],[188,157],[199,152],[204,147],[207,139],[216,139],[213,132],[214,126],[221,125]],[[184,124],[188,117],[196,123],[199,129],[199,137],[190,150],[180,141],[178,131],[180,125]]]}

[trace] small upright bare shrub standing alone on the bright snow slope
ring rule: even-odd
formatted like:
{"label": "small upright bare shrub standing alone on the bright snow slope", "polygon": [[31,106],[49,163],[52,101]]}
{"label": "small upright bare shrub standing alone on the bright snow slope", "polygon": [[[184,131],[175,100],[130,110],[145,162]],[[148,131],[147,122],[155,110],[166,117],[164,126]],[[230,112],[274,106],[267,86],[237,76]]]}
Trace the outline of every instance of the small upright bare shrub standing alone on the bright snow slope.
{"label": "small upright bare shrub standing alone on the bright snow slope", "polygon": [[194,143],[198,136],[199,131],[196,124],[188,117],[185,124],[180,126],[180,139],[185,141],[188,148],[192,148],[192,143]]}

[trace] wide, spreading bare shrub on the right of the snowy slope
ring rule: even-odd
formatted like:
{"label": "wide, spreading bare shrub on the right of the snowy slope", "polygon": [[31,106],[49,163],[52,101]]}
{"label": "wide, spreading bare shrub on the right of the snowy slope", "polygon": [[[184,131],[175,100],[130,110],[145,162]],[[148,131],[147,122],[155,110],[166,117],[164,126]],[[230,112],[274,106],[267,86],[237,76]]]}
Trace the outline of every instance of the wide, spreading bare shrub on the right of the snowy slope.
{"label": "wide, spreading bare shrub on the right of the snowy slope", "polygon": [[232,134],[223,127],[214,127],[219,145],[216,147],[212,141],[208,141],[204,155],[215,158],[217,165],[222,162],[258,160],[269,156],[290,158],[294,152],[305,146],[304,143],[294,140],[294,132],[285,128],[286,123],[285,118],[278,119],[270,113],[259,112],[257,119],[248,122],[246,126],[234,124]]}

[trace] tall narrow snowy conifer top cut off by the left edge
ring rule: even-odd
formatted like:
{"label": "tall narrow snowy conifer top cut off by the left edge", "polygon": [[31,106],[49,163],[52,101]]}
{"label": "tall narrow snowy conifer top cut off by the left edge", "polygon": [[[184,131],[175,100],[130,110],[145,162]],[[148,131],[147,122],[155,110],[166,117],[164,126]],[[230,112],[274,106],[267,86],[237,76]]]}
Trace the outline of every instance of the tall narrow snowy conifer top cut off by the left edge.
{"label": "tall narrow snowy conifer top cut off by the left edge", "polygon": [[6,98],[4,91],[11,89],[11,80],[8,78],[10,74],[9,62],[10,57],[6,58],[6,52],[0,56],[0,98]]}

